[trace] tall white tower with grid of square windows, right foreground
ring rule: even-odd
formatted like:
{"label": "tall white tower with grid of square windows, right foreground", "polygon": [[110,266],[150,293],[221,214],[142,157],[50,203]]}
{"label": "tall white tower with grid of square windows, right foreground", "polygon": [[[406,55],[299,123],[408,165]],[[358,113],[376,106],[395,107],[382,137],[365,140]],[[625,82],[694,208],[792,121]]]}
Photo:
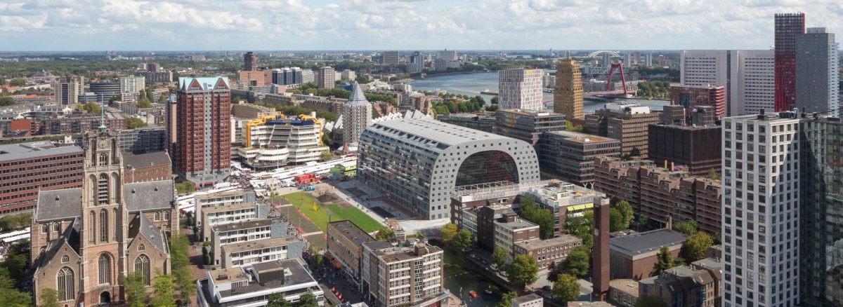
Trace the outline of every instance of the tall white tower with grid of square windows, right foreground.
{"label": "tall white tower with grid of square windows, right foreground", "polygon": [[723,119],[724,307],[799,303],[799,119]]}

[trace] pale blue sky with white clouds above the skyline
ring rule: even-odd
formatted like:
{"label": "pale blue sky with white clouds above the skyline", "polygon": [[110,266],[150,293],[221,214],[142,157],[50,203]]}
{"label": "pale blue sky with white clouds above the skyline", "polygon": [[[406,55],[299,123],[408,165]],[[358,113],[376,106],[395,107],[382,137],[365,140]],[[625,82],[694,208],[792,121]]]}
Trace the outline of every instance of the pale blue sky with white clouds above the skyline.
{"label": "pale blue sky with white clouds above the skyline", "polygon": [[795,12],[843,31],[840,0],[0,0],[0,50],[769,49]]}

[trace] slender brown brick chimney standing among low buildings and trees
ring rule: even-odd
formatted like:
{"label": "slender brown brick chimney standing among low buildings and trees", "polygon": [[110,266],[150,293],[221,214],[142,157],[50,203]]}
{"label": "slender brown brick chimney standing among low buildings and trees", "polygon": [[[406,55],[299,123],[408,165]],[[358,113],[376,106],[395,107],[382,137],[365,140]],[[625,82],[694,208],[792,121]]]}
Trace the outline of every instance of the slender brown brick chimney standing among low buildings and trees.
{"label": "slender brown brick chimney standing among low buildings and trees", "polygon": [[594,248],[592,264],[592,299],[609,298],[609,198],[594,204]]}

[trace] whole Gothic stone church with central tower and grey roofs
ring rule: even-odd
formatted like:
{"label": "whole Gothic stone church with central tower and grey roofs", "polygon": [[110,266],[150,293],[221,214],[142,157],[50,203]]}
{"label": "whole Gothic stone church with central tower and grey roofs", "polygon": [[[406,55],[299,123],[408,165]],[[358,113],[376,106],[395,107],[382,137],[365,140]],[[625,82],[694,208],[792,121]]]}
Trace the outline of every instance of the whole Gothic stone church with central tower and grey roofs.
{"label": "whole Gothic stone church with central tower and grey roofs", "polygon": [[[179,230],[172,180],[123,183],[118,133],[84,135],[82,188],[43,191],[32,219],[35,298],[54,288],[62,306],[126,300],[121,278],[140,271],[151,285],[170,273],[169,237]],[[150,288],[151,291],[151,288]]]}

